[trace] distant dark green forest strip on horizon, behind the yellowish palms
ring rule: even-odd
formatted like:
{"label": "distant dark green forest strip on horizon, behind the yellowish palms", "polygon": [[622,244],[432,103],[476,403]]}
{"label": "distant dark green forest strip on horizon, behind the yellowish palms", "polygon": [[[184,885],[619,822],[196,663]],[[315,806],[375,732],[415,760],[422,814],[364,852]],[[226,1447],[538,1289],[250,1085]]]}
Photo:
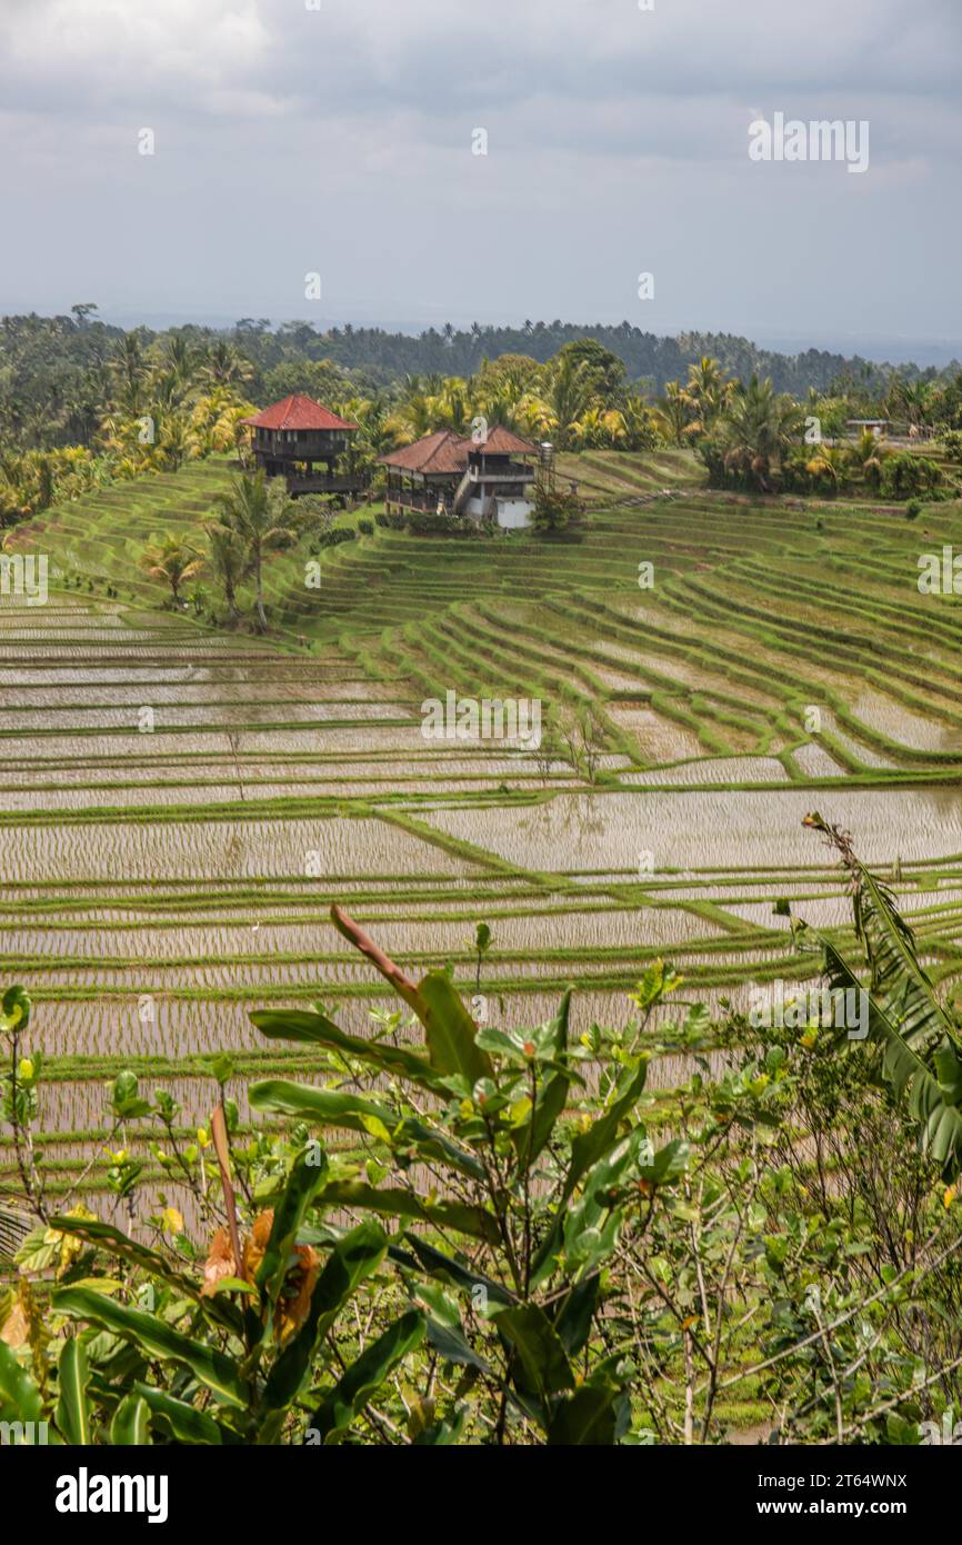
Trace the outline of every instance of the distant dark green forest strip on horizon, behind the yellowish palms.
{"label": "distant dark green forest strip on horizon, behind the yellowish palms", "polygon": [[[0,323],[0,439],[19,448],[90,445],[110,403],[122,340],[136,337],[141,352],[164,351],[171,340],[195,352],[229,345],[250,365],[244,386],[252,402],[266,403],[284,391],[307,389],[300,382],[324,385],[323,366],[337,366],[358,396],[384,391],[408,375],[474,375],[485,360],[527,355],[544,365],[565,345],[596,338],[625,366],[627,379],[650,397],[673,380],[684,380],[690,365],[706,355],[740,380],[769,379],[775,391],[804,397],[809,391],[871,399],[893,375],[934,382],[956,374],[914,365],[877,365],[825,349],[797,355],[760,349],[733,334],[681,334],[659,338],[622,321],[618,326],[562,321],[525,321],[520,328],[459,331],[429,328],[418,337],[381,328],[330,328],[309,321],[272,328],[267,318],[241,318],[230,329],[188,324],[162,332],[136,328],[125,332],[96,318],[96,306],[79,304],[69,317],[5,317]],[[318,366],[321,368],[318,372]]]}

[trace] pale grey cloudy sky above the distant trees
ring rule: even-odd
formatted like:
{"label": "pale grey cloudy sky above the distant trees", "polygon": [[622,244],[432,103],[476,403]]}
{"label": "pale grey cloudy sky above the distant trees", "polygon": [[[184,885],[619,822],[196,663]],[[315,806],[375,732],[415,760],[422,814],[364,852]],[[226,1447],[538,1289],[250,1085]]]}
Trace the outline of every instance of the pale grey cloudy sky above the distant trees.
{"label": "pale grey cloudy sky above the distant trees", "polygon": [[960,65],[962,0],[0,0],[0,307],[951,343]]}

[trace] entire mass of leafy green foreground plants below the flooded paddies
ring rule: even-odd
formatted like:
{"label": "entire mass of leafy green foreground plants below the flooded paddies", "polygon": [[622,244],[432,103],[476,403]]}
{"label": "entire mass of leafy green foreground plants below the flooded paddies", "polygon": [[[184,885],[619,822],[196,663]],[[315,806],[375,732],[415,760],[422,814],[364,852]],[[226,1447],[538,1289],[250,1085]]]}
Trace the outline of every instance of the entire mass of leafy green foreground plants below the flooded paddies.
{"label": "entire mass of leafy green foreground plants below the flooded paddies", "polygon": [[[713,1443],[733,1421],[917,1443],[951,1423],[960,1029],[888,888],[808,825],[842,857],[863,958],[804,927],[797,947],[823,952],[831,987],[865,976],[865,1041],[809,1014],[764,1035],[699,1007],[656,1027],[681,987],[661,961],[619,1027],[573,1037],[568,995],[540,1026],[479,1027],[448,975],[415,984],[335,908],[409,1014],[363,1037],[320,1006],[255,1014],[320,1074],[250,1088],[273,1125],[238,1134],[229,1055],[188,1145],[170,1095],[113,1083],[116,1129],[153,1129],[205,1245],[165,1196],[136,1236],[49,1214],[42,1035],[8,990],[3,1114],[40,1227],[0,1309],[0,1420],[201,1445]],[[645,1089],[666,1046],[689,1068],[670,1097]],[[124,1148],[113,1174],[133,1221]]]}

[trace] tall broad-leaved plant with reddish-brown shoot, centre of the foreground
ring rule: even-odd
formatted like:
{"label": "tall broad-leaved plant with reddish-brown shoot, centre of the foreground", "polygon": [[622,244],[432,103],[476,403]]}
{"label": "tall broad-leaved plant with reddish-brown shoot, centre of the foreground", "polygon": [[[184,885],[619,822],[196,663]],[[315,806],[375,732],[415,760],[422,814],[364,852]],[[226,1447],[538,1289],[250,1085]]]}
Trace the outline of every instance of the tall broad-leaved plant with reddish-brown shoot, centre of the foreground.
{"label": "tall broad-leaved plant with reddish-brown shoot, centre of the foreground", "polygon": [[[628,1213],[684,1170],[683,1145],[655,1154],[639,1122],[636,1035],[599,1108],[581,1071],[596,1046],[571,1044],[570,993],[534,1029],[482,1027],[448,975],[414,983],[337,905],[332,919],[412,1010],[422,1044],[351,1035],[320,1006],[256,1012],[263,1035],[324,1048],[349,1078],[337,1089],[266,1080],[252,1105],[355,1134],[312,1205],[395,1221],[388,1256],[431,1352],[460,1370],[462,1392],[479,1380],[496,1392],[491,1440],[527,1424],[548,1443],[615,1443],[632,1367],[605,1335],[605,1262]],[[452,1406],[417,1441],[457,1440],[460,1421]]]}

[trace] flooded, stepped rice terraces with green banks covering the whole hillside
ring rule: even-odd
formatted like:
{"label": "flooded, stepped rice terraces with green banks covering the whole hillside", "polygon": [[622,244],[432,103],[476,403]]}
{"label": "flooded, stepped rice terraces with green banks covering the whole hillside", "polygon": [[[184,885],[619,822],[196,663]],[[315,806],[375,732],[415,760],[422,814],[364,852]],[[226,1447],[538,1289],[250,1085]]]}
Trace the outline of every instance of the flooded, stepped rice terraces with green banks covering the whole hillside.
{"label": "flooded, stepped rice terraces with green banks covering the whole hillside", "polygon": [[[777,902],[851,932],[843,876],[801,830],[823,808],[868,862],[899,861],[905,910],[954,981],[962,623],[917,590],[917,525],[891,507],[720,497],[683,453],[571,468],[584,544],[491,552],[375,528],[329,550],[317,593],[295,559],[272,565],[270,643],[158,613],[131,575],[154,527],[196,528],[227,464],[17,528],[15,548],[42,531],[57,578],[46,607],[2,613],[3,970],[56,1048],[54,1194],[108,1136],[119,1055],[168,1080],[196,1125],[201,1054],[281,1065],[250,1009],[320,993],[358,1034],[388,1007],[332,901],[412,969],[452,963],[462,992],[511,1018],[545,1018],[573,983],[587,1029],[666,955],[687,993],[744,1006],[749,981],[797,975]],[[925,541],[948,542],[954,513],[926,510]],[[593,776],[561,754],[425,740],[420,703],[451,688],[590,711]]]}

